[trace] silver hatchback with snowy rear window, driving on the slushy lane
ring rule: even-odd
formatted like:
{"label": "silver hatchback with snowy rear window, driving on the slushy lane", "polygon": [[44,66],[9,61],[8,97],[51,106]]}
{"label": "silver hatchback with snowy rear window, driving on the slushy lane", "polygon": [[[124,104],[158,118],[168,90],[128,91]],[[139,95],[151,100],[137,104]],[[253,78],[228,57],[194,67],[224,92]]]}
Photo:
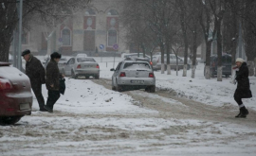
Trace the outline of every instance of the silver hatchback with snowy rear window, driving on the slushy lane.
{"label": "silver hatchback with snowy rear window, driving on the slushy lane", "polygon": [[145,89],[155,92],[155,75],[148,61],[121,61],[112,76],[112,90]]}

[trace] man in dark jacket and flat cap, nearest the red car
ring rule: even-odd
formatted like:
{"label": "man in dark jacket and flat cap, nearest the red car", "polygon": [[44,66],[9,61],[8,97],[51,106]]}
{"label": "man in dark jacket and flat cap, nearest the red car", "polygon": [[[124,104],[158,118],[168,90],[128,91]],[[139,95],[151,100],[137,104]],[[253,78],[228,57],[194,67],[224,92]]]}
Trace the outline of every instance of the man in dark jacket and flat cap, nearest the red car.
{"label": "man in dark jacket and flat cap, nearest the red car", "polygon": [[22,52],[22,57],[26,61],[26,75],[30,79],[31,88],[38,101],[40,111],[46,112],[44,108],[45,99],[42,95],[42,84],[46,83],[45,68],[41,61],[35,58],[28,49]]}

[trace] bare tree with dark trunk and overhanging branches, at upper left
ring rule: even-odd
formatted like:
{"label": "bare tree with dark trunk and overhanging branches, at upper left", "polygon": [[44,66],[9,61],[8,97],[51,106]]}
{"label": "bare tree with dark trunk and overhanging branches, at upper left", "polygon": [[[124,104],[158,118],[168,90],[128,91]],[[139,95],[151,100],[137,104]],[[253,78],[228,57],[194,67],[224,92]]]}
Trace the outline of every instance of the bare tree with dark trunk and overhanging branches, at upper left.
{"label": "bare tree with dark trunk and overhanging branches, at upper left", "polygon": [[[74,12],[84,9],[89,2],[90,0],[26,0],[23,3],[23,25],[26,26],[33,20],[33,22],[44,22],[47,26],[53,26],[53,18],[56,19],[56,23],[61,22],[64,20],[66,10]],[[19,21],[17,10],[19,1],[1,0],[0,4],[0,61],[8,61],[12,34]]]}

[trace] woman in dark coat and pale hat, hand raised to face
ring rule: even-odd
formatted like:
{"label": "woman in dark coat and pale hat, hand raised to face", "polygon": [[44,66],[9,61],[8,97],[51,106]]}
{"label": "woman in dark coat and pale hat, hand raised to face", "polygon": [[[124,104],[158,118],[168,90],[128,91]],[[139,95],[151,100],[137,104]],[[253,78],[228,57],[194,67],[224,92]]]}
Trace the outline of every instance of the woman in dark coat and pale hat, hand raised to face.
{"label": "woman in dark coat and pale hat, hand raised to face", "polygon": [[248,67],[247,62],[245,62],[241,58],[236,59],[236,67],[239,69],[236,71],[237,88],[234,93],[234,100],[239,105],[240,113],[238,113],[235,117],[247,117],[248,111],[246,106],[242,102],[242,98],[250,98],[252,97],[251,91],[249,88],[249,79],[248,79]]}

